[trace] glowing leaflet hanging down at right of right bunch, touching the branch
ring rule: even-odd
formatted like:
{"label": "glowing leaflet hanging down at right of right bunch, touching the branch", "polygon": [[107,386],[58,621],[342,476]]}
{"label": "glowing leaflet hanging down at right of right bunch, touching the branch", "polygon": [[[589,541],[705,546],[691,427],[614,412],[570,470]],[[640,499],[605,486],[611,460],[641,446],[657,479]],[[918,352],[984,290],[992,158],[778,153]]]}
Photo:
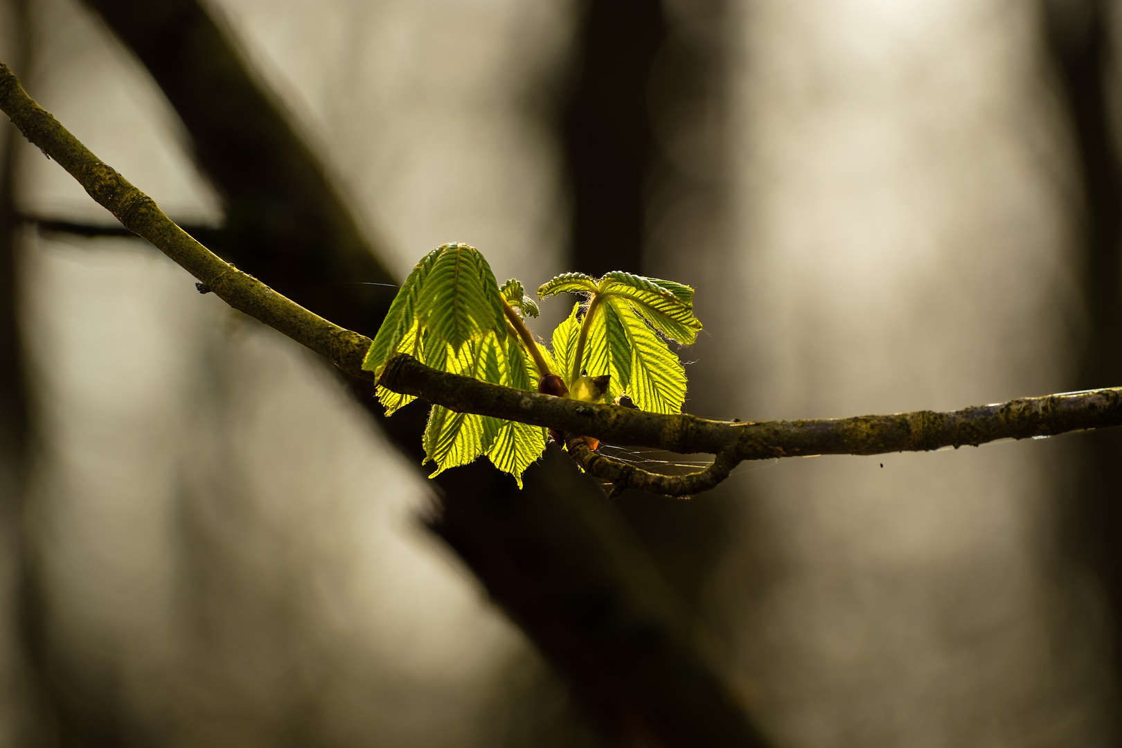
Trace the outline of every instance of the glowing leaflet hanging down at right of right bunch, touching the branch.
{"label": "glowing leaflet hanging down at right of right bunch, touching the branch", "polygon": [[686,370],[678,357],[634,310],[614,305],[631,347],[627,394],[643,410],[680,413],[686,401]]}

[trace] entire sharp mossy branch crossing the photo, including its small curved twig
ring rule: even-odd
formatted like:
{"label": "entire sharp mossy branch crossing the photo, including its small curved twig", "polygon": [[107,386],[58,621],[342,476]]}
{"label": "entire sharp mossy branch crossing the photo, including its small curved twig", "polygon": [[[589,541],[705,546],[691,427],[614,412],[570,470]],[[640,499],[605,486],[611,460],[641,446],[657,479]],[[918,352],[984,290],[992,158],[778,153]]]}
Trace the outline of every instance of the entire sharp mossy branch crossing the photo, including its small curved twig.
{"label": "entire sharp mossy branch crossing the photo, including its small curved twig", "polygon": [[[307,311],[195,241],[150,197],[102,163],[31,100],[2,63],[0,110],[127,229],[195,276],[201,281],[200,290],[213,292],[233,308],[288,335],[347,373],[371,379],[370,372],[361,368],[370,347],[369,338]],[[853,418],[742,423],[709,421],[688,414],[660,415],[511,389],[436,371],[404,354],[389,362],[379,384],[461,413],[521,421],[622,444],[719,455],[719,460],[701,473],[660,482],[657,477],[651,478],[653,473],[626,470],[599,455],[574,454],[592,468],[594,474],[607,477],[617,488],[670,493],[710,488],[727,475],[726,468],[730,470],[742,460],[925,451],[1122,424],[1122,388],[1020,398],[948,413],[917,410]]]}

